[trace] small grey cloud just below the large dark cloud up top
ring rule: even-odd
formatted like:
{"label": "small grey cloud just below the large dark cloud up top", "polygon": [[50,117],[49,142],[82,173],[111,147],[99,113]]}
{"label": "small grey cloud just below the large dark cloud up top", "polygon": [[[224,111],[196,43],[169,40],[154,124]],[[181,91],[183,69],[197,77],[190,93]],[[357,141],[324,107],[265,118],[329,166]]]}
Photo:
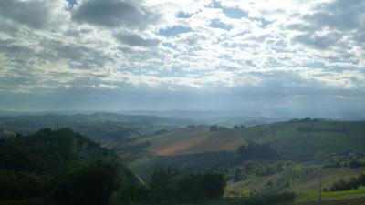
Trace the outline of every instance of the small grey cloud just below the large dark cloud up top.
{"label": "small grey cloud just below the large dark cloud up top", "polygon": [[157,46],[159,41],[157,39],[144,39],[135,34],[116,34],[114,35],[120,42],[129,46]]}

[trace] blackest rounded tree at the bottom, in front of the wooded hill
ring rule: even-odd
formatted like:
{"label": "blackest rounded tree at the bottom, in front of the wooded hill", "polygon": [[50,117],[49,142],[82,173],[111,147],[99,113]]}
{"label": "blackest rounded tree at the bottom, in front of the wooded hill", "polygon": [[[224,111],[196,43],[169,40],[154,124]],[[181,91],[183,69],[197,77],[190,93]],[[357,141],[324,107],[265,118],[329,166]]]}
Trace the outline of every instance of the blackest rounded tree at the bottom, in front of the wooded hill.
{"label": "blackest rounded tree at the bottom, in front of the wooded hill", "polygon": [[118,170],[105,160],[74,163],[55,179],[53,197],[69,205],[107,205],[120,185]]}

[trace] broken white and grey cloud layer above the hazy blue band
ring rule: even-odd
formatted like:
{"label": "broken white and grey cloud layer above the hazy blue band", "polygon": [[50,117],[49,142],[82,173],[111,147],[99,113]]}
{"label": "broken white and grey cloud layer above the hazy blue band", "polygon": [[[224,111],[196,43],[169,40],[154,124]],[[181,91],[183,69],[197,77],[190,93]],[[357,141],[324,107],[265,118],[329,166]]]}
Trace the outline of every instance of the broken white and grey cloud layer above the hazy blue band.
{"label": "broken white and grey cloud layer above the hazy blue band", "polygon": [[[231,18],[230,8],[247,16]],[[363,1],[345,6],[339,0],[83,0],[72,9],[63,0],[5,0],[0,92],[266,87],[268,82],[266,89],[274,90],[283,87],[271,78],[276,74],[300,80],[289,84],[301,89],[361,89],[363,11]],[[214,21],[222,27],[212,26]],[[191,30],[160,33],[173,26]]]}

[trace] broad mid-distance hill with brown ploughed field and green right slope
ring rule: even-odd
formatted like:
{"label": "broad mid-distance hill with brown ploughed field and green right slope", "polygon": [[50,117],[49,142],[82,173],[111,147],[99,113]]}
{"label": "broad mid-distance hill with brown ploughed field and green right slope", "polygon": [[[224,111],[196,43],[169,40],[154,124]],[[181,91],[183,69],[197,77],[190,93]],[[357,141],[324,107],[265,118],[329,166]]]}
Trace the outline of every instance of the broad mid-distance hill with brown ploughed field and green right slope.
{"label": "broad mid-distance hill with brown ploughed field and green right slope", "polygon": [[211,131],[207,126],[183,128],[138,138],[122,147],[144,145],[160,156],[235,151],[246,140],[267,143],[287,159],[311,158],[317,151],[365,153],[365,121],[295,120],[248,128]]}

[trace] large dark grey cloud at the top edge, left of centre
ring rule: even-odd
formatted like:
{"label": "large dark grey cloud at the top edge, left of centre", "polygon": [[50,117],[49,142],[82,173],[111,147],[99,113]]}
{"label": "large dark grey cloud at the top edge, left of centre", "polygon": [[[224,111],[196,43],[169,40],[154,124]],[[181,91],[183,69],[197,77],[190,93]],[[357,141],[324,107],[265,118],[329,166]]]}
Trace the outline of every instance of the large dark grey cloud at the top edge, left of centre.
{"label": "large dark grey cloud at the top edge, left of centre", "polygon": [[159,15],[147,8],[121,0],[87,0],[73,11],[72,18],[96,26],[144,28],[156,22]]}

